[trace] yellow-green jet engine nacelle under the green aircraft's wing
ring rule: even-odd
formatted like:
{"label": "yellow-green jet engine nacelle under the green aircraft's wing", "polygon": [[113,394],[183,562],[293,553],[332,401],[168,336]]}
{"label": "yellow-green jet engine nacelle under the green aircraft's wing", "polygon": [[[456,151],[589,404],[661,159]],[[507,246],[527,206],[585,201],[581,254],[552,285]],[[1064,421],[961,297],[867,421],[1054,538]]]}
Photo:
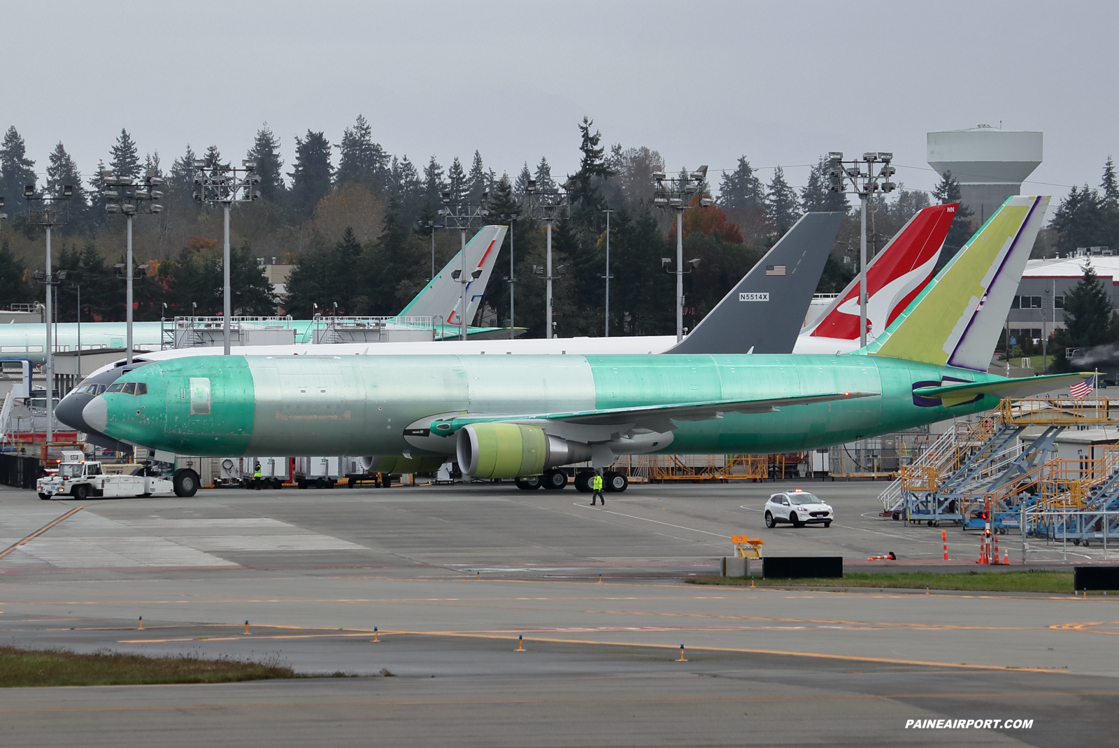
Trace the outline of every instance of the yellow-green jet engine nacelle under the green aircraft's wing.
{"label": "yellow-green jet engine nacelle under the green aircraft's wing", "polygon": [[459,429],[459,467],[471,477],[539,475],[545,467],[591,458],[591,447],[544,433],[539,426],[471,424]]}

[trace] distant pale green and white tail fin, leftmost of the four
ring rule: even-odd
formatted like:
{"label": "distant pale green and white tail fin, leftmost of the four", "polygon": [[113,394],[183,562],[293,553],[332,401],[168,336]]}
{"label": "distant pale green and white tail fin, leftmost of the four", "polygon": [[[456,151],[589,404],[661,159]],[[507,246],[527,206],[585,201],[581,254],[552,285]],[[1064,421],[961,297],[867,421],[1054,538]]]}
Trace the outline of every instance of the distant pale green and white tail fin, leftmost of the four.
{"label": "distant pale green and white tail fin, leftmost of the four", "polygon": [[473,320],[478,312],[478,304],[482,299],[482,292],[493,273],[493,266],[497,264],[497,256],[507,230],[507,226],[483,226],[467,243],[466,257],[463,258],[461,252],[451,257],[450,262],[435,273],[435,277],[416,294],[415,299],[401,310],[401,316],[433,316],[440,318],[444,324],[459,324],[463,292],[461,284],[453,277],[453,273],[466,269],[467,276],[478,273],[477,277],[472,277],[466,284],[466,318],[468,323]]}

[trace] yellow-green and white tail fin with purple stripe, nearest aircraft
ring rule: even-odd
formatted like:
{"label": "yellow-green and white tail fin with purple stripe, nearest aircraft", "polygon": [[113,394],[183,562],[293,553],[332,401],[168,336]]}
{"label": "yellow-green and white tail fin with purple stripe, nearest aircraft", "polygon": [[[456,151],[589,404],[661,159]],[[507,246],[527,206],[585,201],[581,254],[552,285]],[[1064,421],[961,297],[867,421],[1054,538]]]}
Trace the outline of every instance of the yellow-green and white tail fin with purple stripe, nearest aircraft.
{"label": "yellow-green and white tail fin with purple stripe, nearest aircraft", "polygon": [[987,371],[1049,206],[1014,196],[861,353]]}

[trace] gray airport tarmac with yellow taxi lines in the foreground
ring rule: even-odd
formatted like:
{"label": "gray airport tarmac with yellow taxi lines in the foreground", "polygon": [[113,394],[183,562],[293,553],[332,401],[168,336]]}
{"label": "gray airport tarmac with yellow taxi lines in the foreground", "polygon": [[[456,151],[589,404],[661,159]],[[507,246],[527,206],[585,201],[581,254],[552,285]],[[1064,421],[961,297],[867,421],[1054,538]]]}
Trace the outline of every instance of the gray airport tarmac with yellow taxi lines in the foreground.
{"label": "gray airport tarmac with yellow taxi lines in the foreground", "polygon": [[[8,690],[6,735],[12,745],[138,745],[156,732],[168,745],[1115,744],[1119,598],[684,584],[714,571],[731,534],[765,539],[769,555],[939,558],[939,530],[876,517],[884,483],[800,485],[836,506],[831,528],[765,530],[772,483],[633,485],[604,509],[570,489],[510,485],[90,500],[0,558],[0,641],[274,657],[363,678]],[[0,548],[79,505],[0,490]],[[978,539],[948,532],[961,568]],[[1021,543],[1005,538],[1019,561]],[[1061,557],[1049,551],[1051,564]],[[514,652],[518,636],[526,652]],[[687,662],[674,662],[681,643]],[[376,676],[383,669],[396,678]],[[904,728],[1012,717],[1035,725]]]}

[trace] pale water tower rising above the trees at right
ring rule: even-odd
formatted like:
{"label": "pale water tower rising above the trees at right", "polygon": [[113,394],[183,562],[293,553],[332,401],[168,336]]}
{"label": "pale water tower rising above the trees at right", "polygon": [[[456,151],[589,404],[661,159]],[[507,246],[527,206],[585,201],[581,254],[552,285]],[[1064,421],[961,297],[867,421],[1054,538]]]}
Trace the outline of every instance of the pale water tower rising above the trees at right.
{"label": "pale water tower rising above the trees at right", "polygon": [[1022,182],[1042,162],[1042,133],[979,125],[931,132],[929,165],[943,177],[951,171],[960,183],[961,201],[971,209],[976,227],[1003,201],[1022,192]]}

